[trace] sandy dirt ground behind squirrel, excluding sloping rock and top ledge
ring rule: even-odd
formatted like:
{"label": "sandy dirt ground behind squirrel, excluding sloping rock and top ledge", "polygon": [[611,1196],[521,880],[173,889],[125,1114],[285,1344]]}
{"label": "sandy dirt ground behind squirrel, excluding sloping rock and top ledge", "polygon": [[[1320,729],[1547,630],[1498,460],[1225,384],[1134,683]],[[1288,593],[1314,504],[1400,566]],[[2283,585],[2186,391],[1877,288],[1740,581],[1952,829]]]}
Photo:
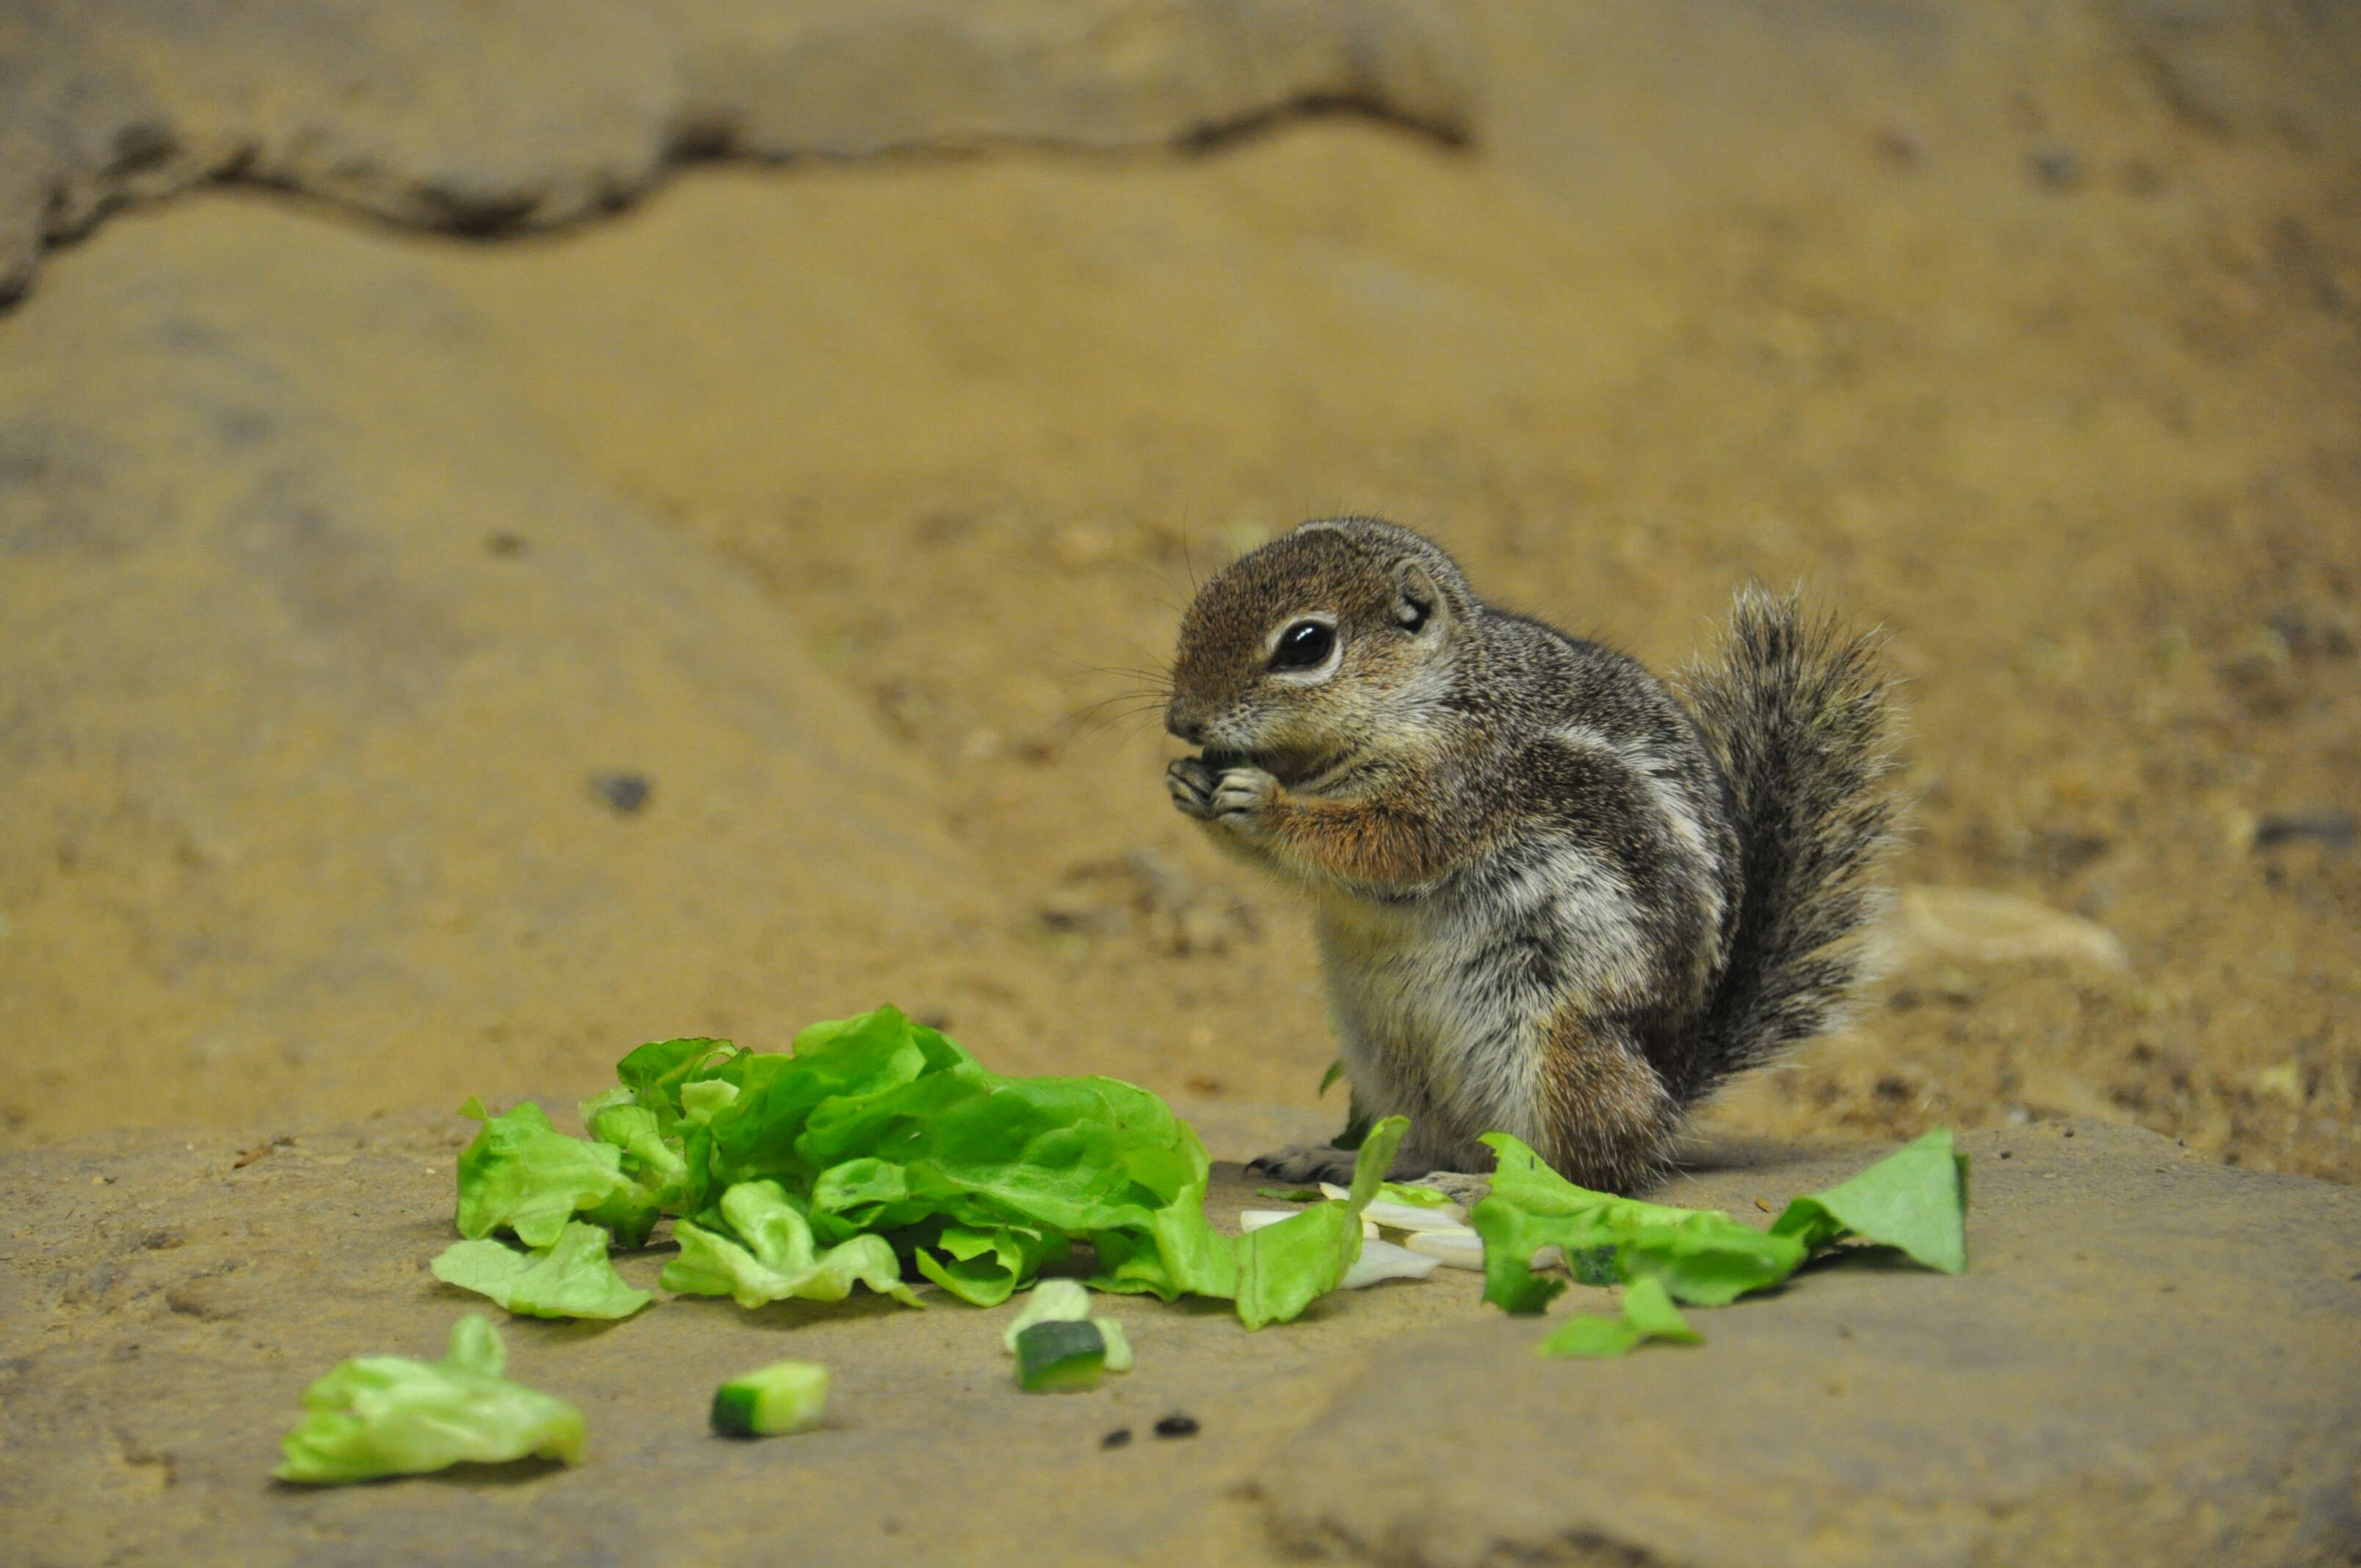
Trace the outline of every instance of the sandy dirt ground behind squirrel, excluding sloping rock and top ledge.
{"label": "sandy dirt ground behind squirrel, excluding sloping rock and top ledge", "polygon": [[[2352,142],[2222,125],[2082,33],[1915,78],[1863,76],[1853,38],[1679,54],[1591,26],[1546,68],[1490,40],[1473,146],[1310,118],[1197,153],[715,165],[496,246],[229,191],[57,255],[0,352],[132,257],[316,246],[432,279],[463,314],[411,333],[418,364],[465,338],[578,484],[758,581],[888,737],[890,810],[961,845],[947,904],[982,912],[928,952],[798,937],[614,1037],[508,1018],[399,1082],[371,1051],[406,1020],[354,1013],[305,1112],[586,1091],[633,1025],[784,1046],[838,1006],[831,975],[1001,1070],[1310,1103],[1332,1048],[1306,921],[1166,805],[1155,690],[1197,576],[1369,510],[1660,666],[1747,576],[1882,621],[1919,798],[1898,874],[2125,945],[2120,973],[1908,963],[1724,1124],[2089,1115],[2361,1181]],[[342,368],[392,383],[399,352]],[[531,548],[508,529],[484,548]],[[40,855],[12,862],[12,926],[45,945],[19,1041],[87,1030],[120,942]],[[833,874],[779,867],[779,895]],[[158,886],[130,867],[109,897]],[[0,1138],[272,1115],[208,1096],[170,1027],[94,1048],[104,1086],[12,1053]]]}

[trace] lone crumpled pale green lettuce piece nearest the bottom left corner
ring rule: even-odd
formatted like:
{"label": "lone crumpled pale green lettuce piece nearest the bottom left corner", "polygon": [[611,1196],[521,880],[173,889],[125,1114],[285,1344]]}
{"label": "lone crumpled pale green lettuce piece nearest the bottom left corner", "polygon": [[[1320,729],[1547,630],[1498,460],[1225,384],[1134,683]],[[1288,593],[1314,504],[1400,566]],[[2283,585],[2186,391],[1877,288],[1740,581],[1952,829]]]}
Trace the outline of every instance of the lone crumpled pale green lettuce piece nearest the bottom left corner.
{"label": "lone crumpled pale green lettuce piece nearest the bottom left corner", "polygon": [[359,1355],[302,1391],[305,1417],[281,1438],[281,1481],[420,1476],[453,1464],[581,1464],[583,1415],[501,1377],[508,1351],[482,1313],[451,1327],[442,1360]]}

